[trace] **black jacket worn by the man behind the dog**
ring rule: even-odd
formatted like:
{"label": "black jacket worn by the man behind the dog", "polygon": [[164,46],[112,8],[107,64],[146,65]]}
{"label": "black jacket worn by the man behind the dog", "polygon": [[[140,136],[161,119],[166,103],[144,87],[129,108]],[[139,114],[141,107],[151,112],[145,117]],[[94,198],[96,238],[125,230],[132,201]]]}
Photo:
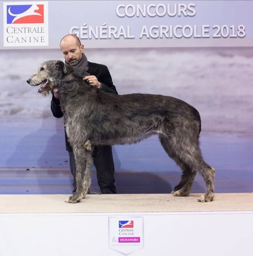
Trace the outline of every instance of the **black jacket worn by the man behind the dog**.
{"label": "black jacket worn by the man behind the dog", "polygon": [[[95,75],[97,80],[101,83],[101,89],[105,92],[109,93],[116,93],[116,87],[113,85],[112,77],[110,75],[110,72],[105,65],[97,64],[97,63],[92,63],[88,61],[88,73],[90,75]],[[51,100],[51,111],[54,117],[61,118],[63,116],[63,113],[61,111],[60,107],[60,101],[56,99],[54,96],[52,96]],[[65,131],[65,142],[66,142],[66,150],[69,152],[72,152],[72,147],[69,144],[66,131]]]}

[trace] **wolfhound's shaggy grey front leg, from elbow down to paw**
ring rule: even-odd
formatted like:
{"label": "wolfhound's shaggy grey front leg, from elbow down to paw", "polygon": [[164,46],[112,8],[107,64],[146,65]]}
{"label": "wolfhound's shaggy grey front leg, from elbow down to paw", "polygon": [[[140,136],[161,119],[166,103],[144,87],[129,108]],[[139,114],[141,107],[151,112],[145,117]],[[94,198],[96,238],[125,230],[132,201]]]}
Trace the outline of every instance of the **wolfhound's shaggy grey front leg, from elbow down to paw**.
{"label": "wolfhound's shaggy grey front leg, from elbow down to paw", "polygon": [[91,147],[87,149],[87,146],[74,147],[73,148],[75,163],[76,163],[76,192],[73,193],[67,203],[78,203],[84,198],[90,187],[90,170],[91,170]]}

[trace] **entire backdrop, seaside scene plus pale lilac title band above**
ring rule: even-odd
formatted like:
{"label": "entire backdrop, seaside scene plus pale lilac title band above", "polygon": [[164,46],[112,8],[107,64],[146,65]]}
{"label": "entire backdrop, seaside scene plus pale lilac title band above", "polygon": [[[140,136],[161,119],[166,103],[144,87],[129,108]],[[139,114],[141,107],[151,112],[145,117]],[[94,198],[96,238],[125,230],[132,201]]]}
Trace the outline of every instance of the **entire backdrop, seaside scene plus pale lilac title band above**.
{"label": "entire backdrop, seaside scene plus pale lilac title band above", "polygon": [[[215,191],[252,192],[253,29],[250,16],[247,16],[253,7],[252,1],[196,1],[195,6],[185,1],[186,9],[181,6],[180,10],[185,10],[186,16],[183,11],[178,12],[179,9],[175,16],[168,13],[159,16],[165,7],[168,8],[168,3],[173,4],[171,13],[174,7],[179,8],[179,1],[155,1],[156,6],[160,6],[150,6],[150,14],[155,14],[153,17],[148,16],[148,12],[146,16],[139,13],[137,17],[137,9],[146,8],[147,11],[151,1],[138,1],[140,7],[131,1],[107,1],[107,4],[103,1],[96,1],[97,4],[95,1],[71,1],[71,5],[63,1],[61,9],[57,2],[28,2],[31,5],[46,3],[43,10],[48,14],[45,25],[48,45],[22,45],[20,35],[14,33],[15,25],[8,25],[7,19],[2,19],[10,35],[4,35],[0,42],[1,194],[71,193],[72,177],[68,152],[65,151],[63,118],[52,116],[51,96],[42,97],[37,94],[38,88],[26,83],[40,63],[64,60],[59,41],[70,31],[83,37],[80,39],[90,62],[108,67],[119,94],[162,94],[194,106],[202,120],[200,142],[204,159],[216,169]],[[3,2],[2,12],[8,16],[7,6],[15,4],[17,2]],[[64,10],[69,11],[65,14]],[[96,21],[90,17],[94,12],[101,13]],[[84,23],[94,31],[96,26],[106,23],[107,29],[103,31],[107,33],[99,33],[98,38],[92,34],[89,38],[89,28],[81,29],[85,27]],[[116,27],[119,32],[121,24],[126,33],[121,28],[122,36],[113,38],[119,34],[109,34],[109,26]],[[188,25],[182,37],[176,37],[182,33],[180,26],[170,38],[166,33],[156,38],[156,28],[149,31],[150,38],[147,33],[144,35],[144,26],[163,26],[164,31],[166,27],[170,31],[170,25],[174,28],[178,24],[182,28]],[[209,24],[208,32],[202,33],[203,24]],[[220,38],[213,37],[215,24],[220,28],[223,26]],[[245,26],[245,36],[233,37],[233,25],[238,28],[241,24]],[[225,25],[229,28],[227,37],[224,37],[227,34]],[[127,26],[131,29],[129,34]],[[191,28],[192,36],[187,37]],[[194,28],[197,29],[195,35]],[[100,38],[101,35],[105,38]],[[210,37],[203,37],[205,35]],[[8,46],[4,46],[7,44],[5,40],[9,41]],[[11,45],[13,40],[20,44]],[[167,157],[157,136],[139,144],[115,145],[113,156],[118,193],[170,193],[180,179],[181,170]],[[97,188],[94,167],[92,173],[91,186]],[[197,176],[192,192],[203,193],[204,190],[203,179]]]}

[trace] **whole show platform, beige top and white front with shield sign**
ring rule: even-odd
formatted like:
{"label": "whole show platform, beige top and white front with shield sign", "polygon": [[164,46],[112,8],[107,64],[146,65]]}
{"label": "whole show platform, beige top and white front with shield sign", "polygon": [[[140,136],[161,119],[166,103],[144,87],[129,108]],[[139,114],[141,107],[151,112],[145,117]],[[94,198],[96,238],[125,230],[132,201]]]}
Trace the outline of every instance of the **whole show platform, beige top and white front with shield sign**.
{"label": "whole show platform, beige top and white front with shield sign", "polygon": [[0,195],[0,255],[252,256],[253,193]]}

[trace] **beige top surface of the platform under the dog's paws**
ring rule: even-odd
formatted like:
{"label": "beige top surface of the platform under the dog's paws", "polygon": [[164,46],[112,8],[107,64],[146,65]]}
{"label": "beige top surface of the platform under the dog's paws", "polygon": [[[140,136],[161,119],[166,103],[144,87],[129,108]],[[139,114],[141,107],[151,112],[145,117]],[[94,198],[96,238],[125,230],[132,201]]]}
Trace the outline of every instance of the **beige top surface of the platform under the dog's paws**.
{"label": "beige top surface of the platform under the dog's paws", "polygon": [[126,213],[253,211],[253,193],[216,193],[213,202],[200,203],[203,194],[175,197],[172,194],[86,195],[68,204],[69,195],[0,195],[1,213]]}

